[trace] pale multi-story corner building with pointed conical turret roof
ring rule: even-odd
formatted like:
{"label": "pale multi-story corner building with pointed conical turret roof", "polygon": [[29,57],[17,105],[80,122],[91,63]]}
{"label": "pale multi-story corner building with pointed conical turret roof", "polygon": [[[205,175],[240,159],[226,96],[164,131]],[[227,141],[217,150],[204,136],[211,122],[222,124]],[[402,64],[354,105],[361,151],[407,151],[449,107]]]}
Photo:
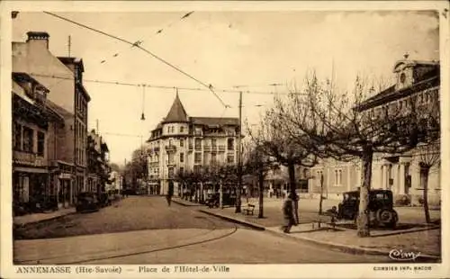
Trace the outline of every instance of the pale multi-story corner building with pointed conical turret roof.
{"label": "pale multi-story corner building with pointed conical turret roof", "polygon": [[180,193],[178,172],[236,164],[239,130],[238,118],[188,116],[176,94],[166,118],[147,140],[150,193],[165,194],[169,185]]}

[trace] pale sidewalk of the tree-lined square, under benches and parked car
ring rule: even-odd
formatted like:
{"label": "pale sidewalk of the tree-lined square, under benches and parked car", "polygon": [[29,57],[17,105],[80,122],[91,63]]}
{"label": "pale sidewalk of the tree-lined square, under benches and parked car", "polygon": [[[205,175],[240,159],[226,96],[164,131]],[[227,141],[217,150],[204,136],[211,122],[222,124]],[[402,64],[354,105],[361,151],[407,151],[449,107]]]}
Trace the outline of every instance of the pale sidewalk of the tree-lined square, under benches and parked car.
{"label": "pale sidewalk of the tree-lined square, under benches and parked car", "polygon": [[[175,200],[178,203],[185,202],[179,199]],[[281,204],[279,201],[265,201],[265,218],[262,219],[257,218],[258,206],[255,208],[254,215],[235,213],[234,207],[209,209],[204,206],[200,211],[241,223],[253,229],[266,230],[279,236],[309,241],[352,254],[388,255],[392,249],[402,249],[405,252],[420,252],[420,259],[422,260],[437,261],[440,258],[440,227],[421,224],[424,219],[422,217],[423,209],[421,208],[396,208],[400,215],[401,224],[405,225],[399,226],[399,229],[396,230],[372,229],[370,238],[358,238],[356,229],[345,229],[343,226],[333,229],[331,225],[327,224],[330,220],[329,217],[318,215],[317,207],[314,211],[311,211],[313,202],[303,201],[305,200],[299,203],[300,224],[294,226],[289,234],[284,234],[280,229],[283,224],[283,214],[281,205],[275,206],[275,204]],[[256,202],[251,203],[257,205]],[[247,203],[243,201],[242,204],[245,207]],[[327,207],[324,206],[324,209],[327,209]],[[440,218],[440,211],[430,211],[430,213],[433,220]],[[408,226],[409,223],[415,225]]]}

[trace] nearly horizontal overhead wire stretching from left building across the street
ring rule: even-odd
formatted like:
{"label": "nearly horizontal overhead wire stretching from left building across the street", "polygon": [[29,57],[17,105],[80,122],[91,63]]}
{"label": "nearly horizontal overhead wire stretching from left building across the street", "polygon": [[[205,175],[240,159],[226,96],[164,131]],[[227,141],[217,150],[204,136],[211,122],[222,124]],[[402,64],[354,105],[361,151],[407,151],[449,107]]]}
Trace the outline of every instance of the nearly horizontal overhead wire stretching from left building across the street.
{"label": "nearly horizontal overhead wire stretching from left building across the street", "polygon": [[[58,78],[58,79],[73,79],[72,77],[65,77],[65,76],[55,76],[55,75],[42,75],[42,74],[36,74],[36,73],[29,73],[31,76],[41,76],[41,77],[51,77],[51,78]],[[207,92],[209,90],[199,88],[199,87],[181,87],[181,86],[174,86],[174,85],[152,85],[147,83],[128,83],[128,82],[119,82],[119,81],[111,81],[111,80],[99,80],[99,79],[83,79],[86,83],[96,83],[96,84],[104,84],[104,85],[125,85],[125,86],[141,86],[145,85],[146,87],[151,88],[157,88],[157,89],[167,89],[167,90],[174,90],[174,88],[178,88],[179,90],[189,90],[189,91],[202,91]],[[239,90],[236,89],[216,89],[217,92],[221,93],[239,93]],[[242,90],[243,94],[290,94],[290,93],[274,93],[269,91],[253,91],[253,90]]]}

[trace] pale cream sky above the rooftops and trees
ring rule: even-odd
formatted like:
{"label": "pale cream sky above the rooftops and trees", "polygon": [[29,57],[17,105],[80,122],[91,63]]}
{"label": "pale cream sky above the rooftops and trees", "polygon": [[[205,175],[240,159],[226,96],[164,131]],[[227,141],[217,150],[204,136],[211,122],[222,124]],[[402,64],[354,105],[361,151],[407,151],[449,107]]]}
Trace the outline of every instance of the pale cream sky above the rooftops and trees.
{"label": "pale cream sky above the rooftops and trees", "polygon": [[[214,88],[266,92],[243,94],[242,118],[250,124],[273,103],[270,93],[301,84],[311,70],[322,78],[333,72],[338,88],[350,90],[356,75],[392,79],[393,65],[405,53],[439,59],[438,18],[431,12],[193,11],[180,20],[188,12],[55,14],[125,40],[143,40],[143,48]],[[141,86],[85,82],[92,98],[88,129],[98,121],[114,163],[129,160],[148,139],[170,109],[175,87],[204,88],[140,49],[49,14],[18,14],[13,40],[26,40],[27,31],[49,32],[55,56],[68,55],[70,36],[71,56],[83,58],[85,80],[171,87],[146,87],[144,94]],[[211,92],[178,92],[190,116],[238,117],[237,93],[218,92],[230,105],[225,109]]]}

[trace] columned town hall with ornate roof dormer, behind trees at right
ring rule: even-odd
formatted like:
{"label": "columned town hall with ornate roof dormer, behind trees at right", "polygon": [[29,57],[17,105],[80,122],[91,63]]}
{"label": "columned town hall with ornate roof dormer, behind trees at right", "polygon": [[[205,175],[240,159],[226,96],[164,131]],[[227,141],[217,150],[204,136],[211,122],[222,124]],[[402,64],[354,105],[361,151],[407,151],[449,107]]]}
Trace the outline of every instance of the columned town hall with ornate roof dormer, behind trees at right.
{"label": "columned town hall with ornate roof dormer, behind trees at right", "polygon": [[[412,103],[423,111],[438,111],[440,76],[436,61],[415,61],[408,57],[397,61],[393,72],[396,83],[379,94],[367,99],[359,106],[360,112],[379,115],[390,107],[400,108],[408,113]],[[424,123],[431,125],[432,123]],[[438,152],[438,151],[437,151]],[[423,196],[420,163],[423,157],[419,148],[405,154],[374,154],[372,188],[391,189],[395,195],[409,195],[413,203]],[[343,163],[328,159],[311,168],[310,192],[318,193],[320,176],[324,176],[326,193],[355,190],[361,185],[361,165],[359,161]],[[428,197],[430,202],[440,201],[440,166],[433,166],[428,177]]]}

